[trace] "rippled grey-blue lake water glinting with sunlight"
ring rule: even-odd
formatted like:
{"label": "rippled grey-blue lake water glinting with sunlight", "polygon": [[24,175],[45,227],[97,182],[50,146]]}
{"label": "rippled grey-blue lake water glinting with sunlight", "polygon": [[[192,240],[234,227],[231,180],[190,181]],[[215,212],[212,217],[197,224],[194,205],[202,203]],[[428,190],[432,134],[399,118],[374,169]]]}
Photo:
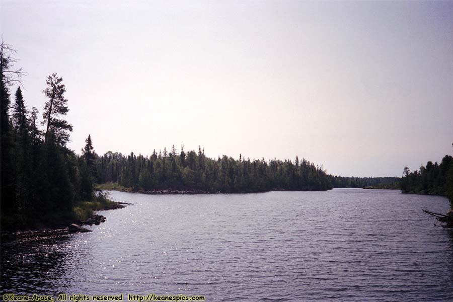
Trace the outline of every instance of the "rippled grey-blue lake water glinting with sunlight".
{"label": "rippled grey-blue lake water glinting with sunlight", "polygon": [[[3,240],[1,292],[205,295],[207,301],[453,301],[439,196],[334,189],[110,192],[92,233]],[[90,228],[90,227],[88,227]]]}

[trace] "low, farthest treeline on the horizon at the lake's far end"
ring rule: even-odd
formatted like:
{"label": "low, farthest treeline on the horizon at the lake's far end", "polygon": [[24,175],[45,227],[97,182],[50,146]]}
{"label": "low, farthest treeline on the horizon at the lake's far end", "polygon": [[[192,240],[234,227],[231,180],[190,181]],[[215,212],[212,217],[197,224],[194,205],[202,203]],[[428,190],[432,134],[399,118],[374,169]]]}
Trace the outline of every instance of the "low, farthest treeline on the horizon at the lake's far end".
{"label": "low, farthest treeline on the horizon at the lake's far end", "polygon": [[[399,189],[400,177],[343,177],[329,176],[333,188],[382,187]],[[385,184],[385,186],[384,186]]]}

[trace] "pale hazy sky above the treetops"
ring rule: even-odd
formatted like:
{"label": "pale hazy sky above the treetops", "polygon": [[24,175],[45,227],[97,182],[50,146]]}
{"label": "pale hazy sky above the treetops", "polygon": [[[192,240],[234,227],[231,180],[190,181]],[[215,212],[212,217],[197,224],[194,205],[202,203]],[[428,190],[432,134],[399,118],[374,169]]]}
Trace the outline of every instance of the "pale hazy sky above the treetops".
{"label": "pale hazy sky above the treetops", "polygon": [[0,4],[28,107],[63,78],[76,153],[91,134],[101,155],[201,145],[356,177],[453,154],[453,1]]}

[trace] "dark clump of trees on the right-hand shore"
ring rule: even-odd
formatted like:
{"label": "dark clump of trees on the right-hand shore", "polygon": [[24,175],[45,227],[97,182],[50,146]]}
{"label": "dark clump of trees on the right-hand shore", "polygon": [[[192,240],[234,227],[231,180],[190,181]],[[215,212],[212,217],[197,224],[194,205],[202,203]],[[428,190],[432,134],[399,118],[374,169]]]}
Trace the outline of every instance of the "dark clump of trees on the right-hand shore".
{"label": "dark clump of trees on the right-hand shore", "polygon": [[453,208],[453,157],[445,155],[440,164],[426,163],[418,171],[404,168],[401,181],[403,193],[447,196]]}

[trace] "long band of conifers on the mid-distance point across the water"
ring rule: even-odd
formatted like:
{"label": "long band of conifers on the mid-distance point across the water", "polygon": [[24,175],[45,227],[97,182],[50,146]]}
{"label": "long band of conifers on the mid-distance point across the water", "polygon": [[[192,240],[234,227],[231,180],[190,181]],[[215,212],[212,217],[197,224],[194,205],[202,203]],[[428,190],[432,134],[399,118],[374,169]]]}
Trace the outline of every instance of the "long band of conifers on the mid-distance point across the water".
{"label": "long band of conifers on the mid-distance point across the water", "polygon": [[206,192],[264,192],[270,190],[328,190],[328,175],[315,164],[290,160],[250,160],[223,156],[211,159],[204,148],[176,152],[156,150],[149,157],[108,152],[96,159],[98,183],[114,182],[133,190],[203,190]]}

